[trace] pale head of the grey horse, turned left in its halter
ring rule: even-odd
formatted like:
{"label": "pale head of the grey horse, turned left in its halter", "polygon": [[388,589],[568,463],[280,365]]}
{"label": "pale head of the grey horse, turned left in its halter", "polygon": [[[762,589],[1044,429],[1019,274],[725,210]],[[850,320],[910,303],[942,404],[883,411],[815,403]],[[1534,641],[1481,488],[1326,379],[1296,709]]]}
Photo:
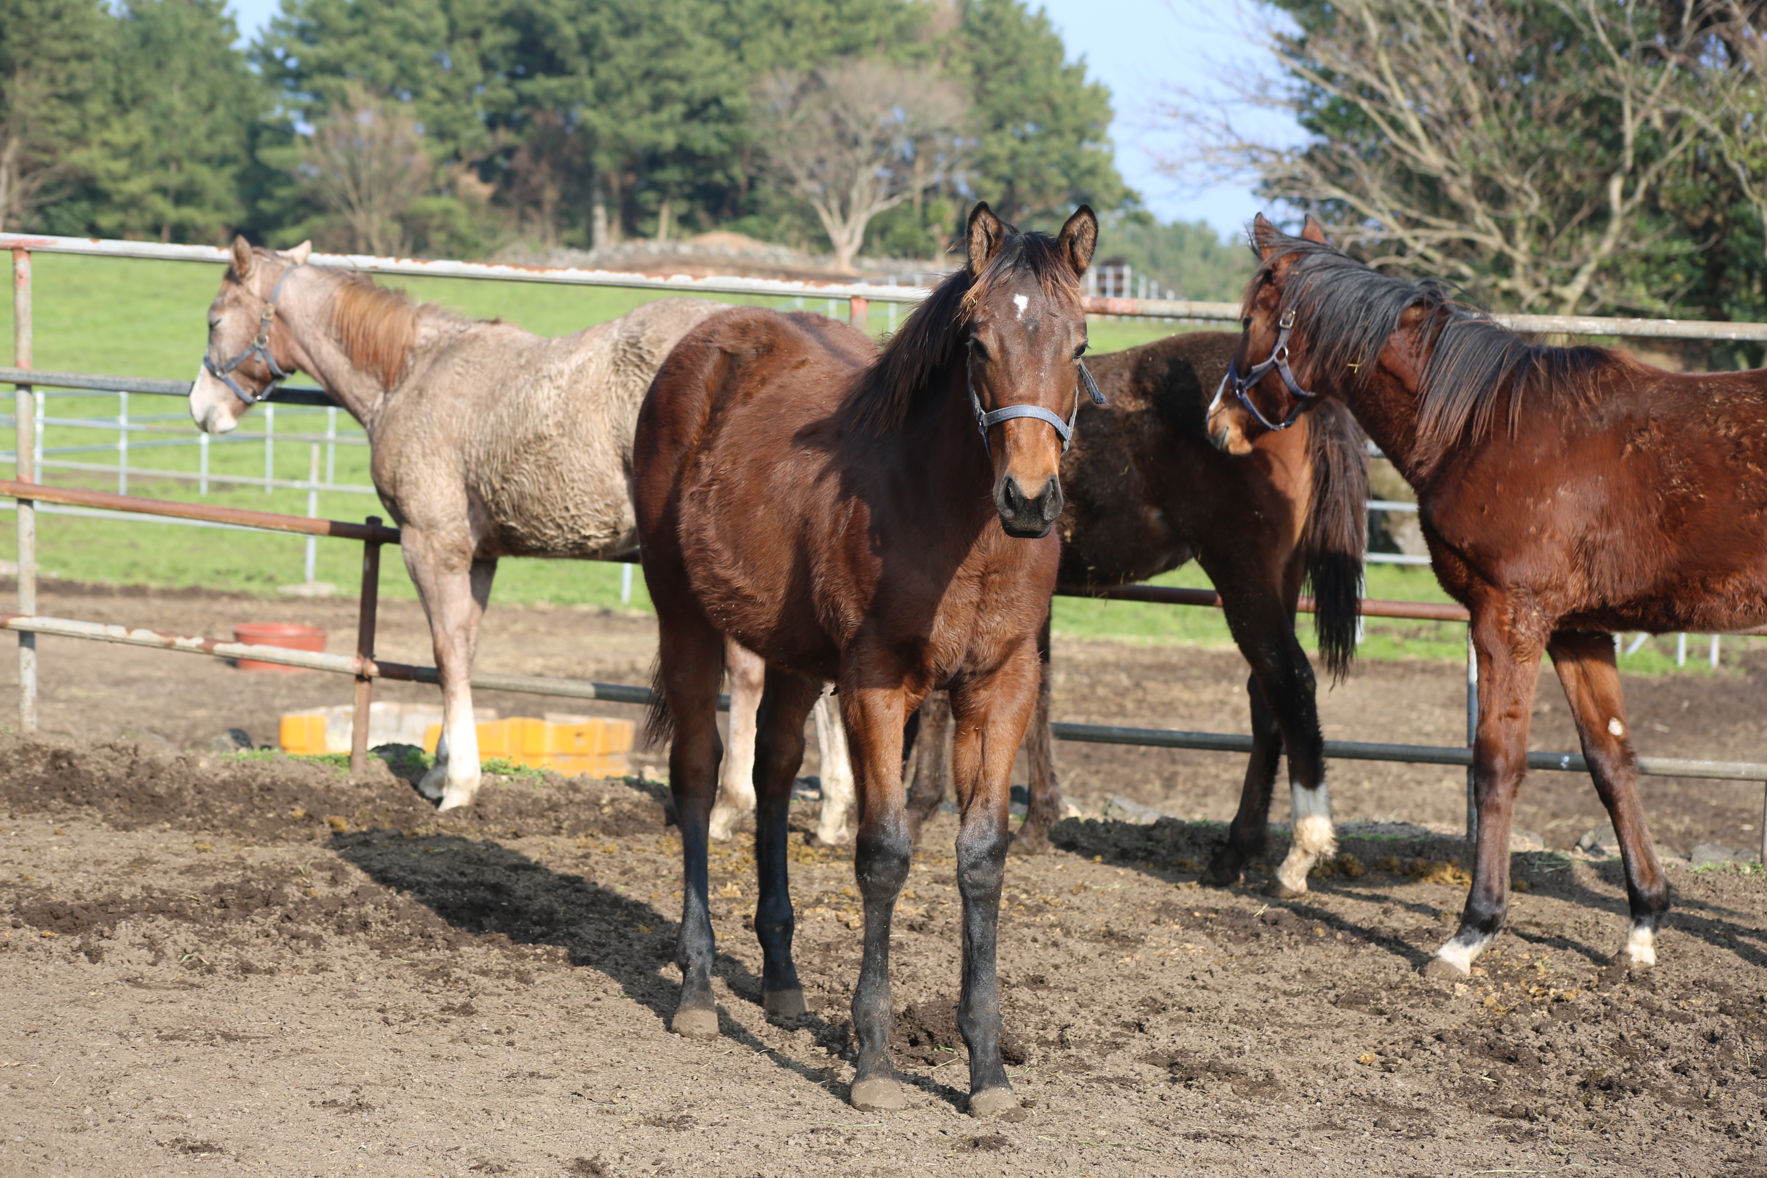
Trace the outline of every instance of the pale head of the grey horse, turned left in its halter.
{"label": "pale head of the grey horse, turned left in its halter", "polygon": [[233,265],[209,306],[209,350],[191,385],[191,420],[203,433],[235,429],[240,415],[297,367],[276,300],[311,253],[313,242],[274,253],[233,238]]}

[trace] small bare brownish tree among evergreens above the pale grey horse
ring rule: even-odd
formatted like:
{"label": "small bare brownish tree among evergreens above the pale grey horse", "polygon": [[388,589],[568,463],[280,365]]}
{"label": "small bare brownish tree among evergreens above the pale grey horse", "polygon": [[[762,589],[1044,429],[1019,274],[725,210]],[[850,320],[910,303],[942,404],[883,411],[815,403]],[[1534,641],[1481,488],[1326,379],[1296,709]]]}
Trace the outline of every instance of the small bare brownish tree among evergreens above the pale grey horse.
{"label": "small bare brownish tree among evergreens above the pale grey horse", "polygon": [[309,191],[350,230],[350,249],[405,253],[403,215],[435,185],[435,161],[410,109],[352,90],[313,127],[300,157]]}

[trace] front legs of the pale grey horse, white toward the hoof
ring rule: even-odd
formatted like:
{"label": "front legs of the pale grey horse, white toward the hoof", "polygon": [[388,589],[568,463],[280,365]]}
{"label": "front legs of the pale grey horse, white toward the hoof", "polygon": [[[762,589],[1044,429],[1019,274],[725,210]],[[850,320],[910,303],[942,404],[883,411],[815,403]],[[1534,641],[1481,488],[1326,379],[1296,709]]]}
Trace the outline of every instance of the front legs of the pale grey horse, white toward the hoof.
{"label": "front legs of the pale grey horse, white toward the hoof", "polygon": [[442,738],[436,761],[417,782],[419,793],[451,811],[479,793],[479,729],[472,715],[472,659],[479,622],[491,599],[495,560],[459,560],[424,532],[406,526],[405,567],[429,618],[436,678],[442,682]]}

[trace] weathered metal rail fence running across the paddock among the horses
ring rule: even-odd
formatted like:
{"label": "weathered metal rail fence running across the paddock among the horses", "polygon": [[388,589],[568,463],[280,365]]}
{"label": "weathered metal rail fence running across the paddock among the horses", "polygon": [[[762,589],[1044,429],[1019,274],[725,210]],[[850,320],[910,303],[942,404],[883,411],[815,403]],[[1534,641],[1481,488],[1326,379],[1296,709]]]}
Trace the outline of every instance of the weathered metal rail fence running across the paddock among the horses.
{"label": "weathered metal rail fence running across the paddock among the horses", "polygon": [[[226,263],[230,260],[230,251],[207,247],[207,245],[161,245],[154,242],[115,242],[115,240],[88,240],[88,238],[65,238],[65,237],[34,237],[19,233],[0,233],[0,249],[12,251],[12,307],[14,307],[14,366],[9,369],[0,369],[0,381],[9,381],[16,385],[16,412],[14,412],[14,433],[16,445],[12,457],[18,466],[18,479],[14,482],[0,482],[0,495],[12,496],[18,500],[18,597],[19,609],[16,615],[0,615],[0,625],[4,629],[12,629],[19,634],[19,728],[21,731],[35,729],[35,706],[37,706],[37,662],[35,662],[35,634],[51,632],[64,634],[69,638],[95,638],[99,641],[125,641],[129,645],[147,645],[161,646],[166,650],[191,650],[198,653],[216,653],[221,657],[253,657],[267,662],[288,662],[292,666],[311,666],[313,669],[327,669],[337,673],[353,675],[357,680],[357,724],[355,724],[355,747],[352,747],[352,766],[360,768],[366,758],[366,740],[368,740],[368,699],[373,691],[373,680],[378,678],[410,678],[415,682],[435,682],[435,671],[431,668],[413,668],[403,664],[380,664],[373,659],[373,632],[375,632],[375,611],[378,600],[378,549],[382,544],[396,544],[398,533],[391,528],[378,526],[378,521],[369,525],[345,525],[336,521],[323,521],[315,517],[299,516],[274,516],[270,512],[247,512],[239,509],[214,509],[207,505],[191,503],[173,503],[164,500],[140,500],[127,495],[106,495],[97,491],[72,491],[72,489],[55,489],[37,484],[37,472],[42,468],[41,450],[41,427],[42,422],[37,415],[35,406],[35,385],[48,385],[57,389],[80,389],[90,392],[115,392],[118,396],[127,396],[131,392],[141,392],[150,396],[187,396],[187,381],[170,381],[170,380],[145,380],[145,378],[118,378],[118,376],[94,376],[87,373],[42,373],[32,367],[32,281],[30,281],[30,256],[32,253],[65,253],[65,254],[92,254],[92,256],[111,256],[111,258],[152,258],[152,260],[177,260],[177,261],[207,261],[207,263]],[[889,304],[891,321],[894,323],[894,311],[899,304],[915,304],[926,298],[929,293],[921,286],[892,286],[892,284],[875,284],[875,283],[788,283],[777,279],[746,279],[746,277],[707,277],[691,279],[686,276],[677,276],[670,279],[657,279],[641,274],[620,274],[608,270],[580,270],[580,268],[541,268],[541,267],[511,267],[511,265],[491,265],[491,263],[474,263],[474,261],[428,261],[415,258],[371,258],[360,254],[313,254],[309,265],[334,267],[346,270],[360,270],[371,274],[405,274],[405,276],[428,276],[428,277],[463,277],[463,279],[488,279],[488,281],[512,281],[512,283],[551,283],[551,284],[576,284],[576,286],[618,286],[634,290],[656,290],[663,293],[679,295],[767,295],[767,297],[786,297],[786,298],[825,298],[830,302],[830,316],[834,311],[834,300],[845,298],[848,302],[848,321],[864,328],[869,302]],[[1237,304],[1225,302],[1191,302],[1191,300],[1168,300],[1168,298],[1115,298],[1115,297],[1097,297],[1088,295],[1083,298],[1088,314],[1106,314],[1106,316],[1124,316],[1124,318],[1150,318],[1164,321],[1194,321],[1194,323],[1232,323],[1239,318]],[[1767,323],[1712,323],[1712,321],[1686,321],[1686,320],[1622,320],[1622,318],[1601,318],[1601,316],[1521,316],[1521,314],[1498,314],[1493,316],[1498,323],[1521,332],[1566,332],[1580,336],[1619,336],[1619,337],[1675,337],[1675,339],[1730,339],[1730,341],[1767,341]],[[284,389],[272,397],[272,404],[265,406],[267,415],[274,413],[274,404],[316,404],[330,408],[332,403],[318,389]],[[120,415],[124,431],[118,438],[118,452],[127,452],[127,410]],[[140,422],[138,422],[140,424]],[[267,426],[265,433],[272,433],[272,426]],[[207,438],[207,436],[205,436]],[[267,442],[267,457],[269,445]],[[315,443],[316,447],[316,443]],[[207,454],[207,450],[205,450]],[[316,456],[316,449],[315,449]],[[65,459],[57,459],[65,461]],[[157,477],[159,472],[155,472]],[[272,479],[272,470],[265,470],[263,480],[260,482],[269,489],[276,480]],[[231,479],[230,479],[231,480]],[[288,482],[288,480],[283,480]],[[120,489],[125,489],[125,475],[120,475]],[[207,480],[203,482],[207,489]],[[318,489],[316,475],[316,457],[313,477],[304,484],[309,493]],[[327,487],[330,489],[330,487]],[[336,487],[343,489],[343,487]],[[299,652],[276,652],[274,648],[244,646],[239,643],[221,643],[219,639],[182,639],[175,636],[163,636],[152,631],[127,631],[122,636],[111,636],[110,631],[120,627],[94,627],[94,623],[58,620],[58,618],[41,618],[35,609],[35,509],[37,503],[53,503],[62,510],[78,512],[118,512],[148,516],[161,519],[182,519],[198,525],[221,525],[221,526],[246,526],[246,528],[269,528],[277,532],[302,532],[309,535],[309,556],[307,569],[311,579],[313,563],[313,542],[320,535],[330,535],[339,539],[359,539],[364,542],[364,576],[362,576],[362,595],[360,595],[360,613],[359,613],[359,636],[357,636],[357,655],[336,657],[336,655],[311,655]],[[309,500],[311,502],[311,500]],[[1415,510],[1415,505],[1376,502],[1376,510]],[[389,539],[391,537],[391,539]],[[1421,558],[1410,558],[1407,563],[1422,563]],[[1163,588],[1147,585],[1115,586],[1101,590],[1097,593],[1088,593],[1094,597],[1106,597],[1115,600],[1145,600],[1145,602],[1166,602],[1166,604],[1193,604],[1193,606],[1219,606],[1219,597],[1210,590],[1182,590],[1182,588]],[[1311,608],[1311,602],[1304,602],[1302,608]],[[1364,616],[1399,616],[1399,618],[1417,618],[1417,620],[1435,620],[1435,622],[1465,622],[1465,609],[1452,604],[1440,602],[1364,602]],[[102,634],[101,634],[102,632]],[[1767,632],[1767,627],[1749,632]],[[131,638],[131,634],[134,638]],[[1682,638],[1682,643],[1686,639]],[[239,648],[235,652],[235,648]],[[223,653],[231,652],[231,653]],[[240,653],[249,652],[249,653]],[[1716,646],[1714,646],[1716,652]],[[295,657],[304,659],[304,662],[295,662]],[[316,659],[316,661],[315,661]],[[337,659],[332,666],[330,661]],[[325,666],[322,666],[322,662]],[[573,680],[541,680],[535,676],[474,676],[474,685],[497,691],[534,691],[541,694],[578,694],[578,698],[588,699],[617,699],[620,703],[645,703],[648,701],[648,689],[643,687],[626,687],[626,685],[603,685],[603,683],[578,683]],[[1472,650],[1468,643],[1468,666],[1467,666],[1467,747],[1431,747],[1431,745],[1382,745],[1366,742],[1327,742],[1327,754],[1343,759],[1387,759],[1387,761],[1412,761],[1412,763],[1430,763],[1430,765],[1470,765],[1470,745],[1474,740],[1474,728],[1477,722],[1477,669],[1472,659]],[[618,698],[608,694],[594,694],[601,691],[617,691]],[[1094,726],[1094,724],[1057,724],[1055,735],[1064,740],[1088,740],[1103,744],[1143,744],[1154,747],[1182,747],[1182,749],[1221,749],[1221,751],[1246,751],[1251,747],[1249,736],[1235,736],[1223,733],[1182,733],[1166,729],[1136,729],[1136,728],[1117,728],[1117,726]],[[1530,768],[1555,768],[1555,770],[1581,770],[1583,758],[1571,752],[1530,752]],[[1732,781],[1758,781],[1767,779],[1767,765],[1756,763],[1726,763],[1726,761],[1673,761],[1652,758],[1642,763],[1642,770],[1647,774],[1675,775],[1675,777],[1716,777]],[[1763,807],[1763,818],[1767,818],[1767,807]],[[1468,768],[1468,832],[1472,830],[1472,782]],[[1763,819],[1762,834],[1762,851],[1763,860],[1767,860],[1767,819]]]}

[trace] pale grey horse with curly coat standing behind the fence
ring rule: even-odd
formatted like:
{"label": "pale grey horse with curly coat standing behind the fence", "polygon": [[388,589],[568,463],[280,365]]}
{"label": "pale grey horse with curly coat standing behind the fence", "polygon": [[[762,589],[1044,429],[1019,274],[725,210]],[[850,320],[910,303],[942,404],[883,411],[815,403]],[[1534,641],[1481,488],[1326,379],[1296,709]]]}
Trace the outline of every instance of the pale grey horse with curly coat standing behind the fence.
{"label": "pale grey horse with curly coat standing behind the fence", "polygon": [[[276,253],[233,240],[233,265],[209,307],[191,417],[207,433],[228,433],[299,369],[368,431],[375,489],[403,533],[442,678],[442,742],[419,789],[442,809],[466,805],[479,789],[472,659],[497,560],[597,558],[636,544],[638,404],[675,341],[723,304],[661,298],[551,339],[306,265],[311,253],[309,242]],[[753,798],[760,659],[735,643],[726,659],[735,756],[723,788],[740,811],[744,793]],[[845,740],[822,744],[832,763],[823,779],[834,777],[839,798],[850,774]],[[825,807],[823,839],[845,835],[845,809]]]}

